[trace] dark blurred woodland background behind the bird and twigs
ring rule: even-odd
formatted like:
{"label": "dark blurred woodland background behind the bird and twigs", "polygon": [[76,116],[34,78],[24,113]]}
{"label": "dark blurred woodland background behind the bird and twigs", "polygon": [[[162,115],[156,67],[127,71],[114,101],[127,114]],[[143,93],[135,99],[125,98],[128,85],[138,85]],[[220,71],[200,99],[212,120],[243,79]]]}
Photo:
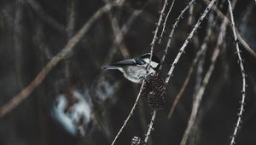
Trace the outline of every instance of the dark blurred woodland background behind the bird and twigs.
{"label": "dark blurred woodland background behind the bird and twigs", "polygon": [[[1,0],[0,107],[30,84],[106,3],[111,0]],[[166,13],[171,3],[169,1]],[[162,42],[154,47],[154,54],[160,58],[172,25],[188,3],[187,0],[174,3]],[[110,144],[130,112],[140,85],[132,84],[117,71],[102,71],[101,67],[149,52],[163,4],[164,0],[126,0],[122,6],[102,14],[32,94],[0,118],[0,144]],[[227,1],[218,1],[218,8],[224,14],[227,6]],[[205,1],[196,2],[178,23],[160,72],[163,78],[206,7]],[[253,0],[244,0],[238,1],[234,9],[236,28],[253,51],[256,51],[255,8]],[[148,144],[175,145],[182,139],[196,86],[201,85],[198,79],[207,73],[223,22],[216,11],[210,14],[215,21],[212,35],[206,42],[210,20],[207,16],[174,70],[166,90],[165,107],[157,113]],[[207,51],[195,66],[172,118],[167,118],[196,52],[205,42]],[[247,95],[236,144],[250,145],[256,144],[256,57],[241,43],[240,48],[247,74]],[[241,86],[233,33],[228,26],[188,144],[229,144],[240,107]],[[116,144],[129,145],[133,136],[143,137],[151,113],[152,109],[141,98]]]}

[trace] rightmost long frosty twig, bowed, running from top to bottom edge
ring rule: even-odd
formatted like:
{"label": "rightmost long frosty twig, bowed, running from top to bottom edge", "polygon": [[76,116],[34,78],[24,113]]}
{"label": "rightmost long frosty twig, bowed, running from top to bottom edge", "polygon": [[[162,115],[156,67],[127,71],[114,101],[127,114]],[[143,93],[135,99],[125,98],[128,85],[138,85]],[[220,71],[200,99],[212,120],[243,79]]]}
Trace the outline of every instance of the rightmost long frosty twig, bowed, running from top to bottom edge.
{"label": "rightmost long frosty twig, bowed, running from top to bottom edge", "polygon": [[233,136],[231,137],[231,141],[230,141],[230,145],[233,145],[233,144],[235,144],[237,131],[238,131],[240,125],[241,125],[242,113],[244,112],[244,103],[245,103],[245,97],[246,97],[246,74],[245,74],[245,70],[244,70],[244,67],[243,67],[243,64],[242,64],[242,60],[241,60],[241,53],[240,53],[238,40],[237,40],[237,35],[236,35],[236,28],[235,28],[234,16],[233,16],[233,12],[232,12],[232,6],[231,6],[231,3],[230,3],[230,0],[228,0],[228,2],[229,2],[229,9],[230,9],[230,18],[231,18],[231,22],[232,22],[232,30],[233,30],[235,44],[236,44],[236,53],[237,53],[237,56],[238,56],[238,62],[239,62],[239,65],[240,65],[241,77],[242,77],[241,106],[240,106],[240,110],[239,110],[239,113],[238,113],[238,119],[236,121],[236,127],[235,127],[235,130],[233,132]]}

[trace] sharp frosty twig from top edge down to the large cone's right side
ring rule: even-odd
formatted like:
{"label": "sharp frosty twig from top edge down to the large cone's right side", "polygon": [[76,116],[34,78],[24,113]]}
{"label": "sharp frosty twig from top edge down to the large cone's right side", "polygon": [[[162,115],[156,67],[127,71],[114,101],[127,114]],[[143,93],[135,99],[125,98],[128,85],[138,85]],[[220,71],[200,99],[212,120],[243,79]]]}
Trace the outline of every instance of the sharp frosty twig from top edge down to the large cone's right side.
{"label": "sharp frosty twig from top edge down to the large cone's right side", "polygon": [[184,52],[184,49],[186,48],[186,46],[189,44],[189,41],[191,40],[191,38],[194,36],[194,33],[197,31],[197,29],[199,28],[199,26],[201,25],[202,20],[205,19],[206,15],[208,14],[208,12],[210,11],[210,9],[212,8],[213,3],[216,3],[217,0],[212,0],[211,3],[208,4],[207,8],[205,9],[205,11],[203,12],[203,14],[201,14],[201,17],[199,18],[199,20],[197,20],[194,28],[192,29],[192,31],[189,33],[189,37],[186,38],[183,46],[179,49],[178,54],[175,58],[175,60],[172,62],[172,67],[170,68],[166,80],[165,80],[165,84],[168,84],[171,76],[172,76],[172,72],[174,70],[174,68],[177,65],[177,61],[179,60],[179,58],[181,57],[181,55]]}

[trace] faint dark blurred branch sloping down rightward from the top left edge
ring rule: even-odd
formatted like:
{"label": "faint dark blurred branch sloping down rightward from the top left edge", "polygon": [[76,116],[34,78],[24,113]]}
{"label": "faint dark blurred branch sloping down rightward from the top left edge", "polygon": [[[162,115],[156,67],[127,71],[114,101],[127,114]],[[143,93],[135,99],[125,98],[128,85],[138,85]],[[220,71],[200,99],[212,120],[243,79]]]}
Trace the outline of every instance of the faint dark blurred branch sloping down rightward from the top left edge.
{"label": "faint dark blurred branch sloping down rightward from the top left edge", "polygon": [[44,22],[49,24],[49,26],[53,27],[56,31],[66,35],[65,26],[62,25],[57,20],[55,20],[52,16],[47,14],[38,2],[36,2],[35,0],[26,0],[26,1],[31,5],[32,9],[34,9],[34,11],[40,16],[40,18],[44,20]]}

